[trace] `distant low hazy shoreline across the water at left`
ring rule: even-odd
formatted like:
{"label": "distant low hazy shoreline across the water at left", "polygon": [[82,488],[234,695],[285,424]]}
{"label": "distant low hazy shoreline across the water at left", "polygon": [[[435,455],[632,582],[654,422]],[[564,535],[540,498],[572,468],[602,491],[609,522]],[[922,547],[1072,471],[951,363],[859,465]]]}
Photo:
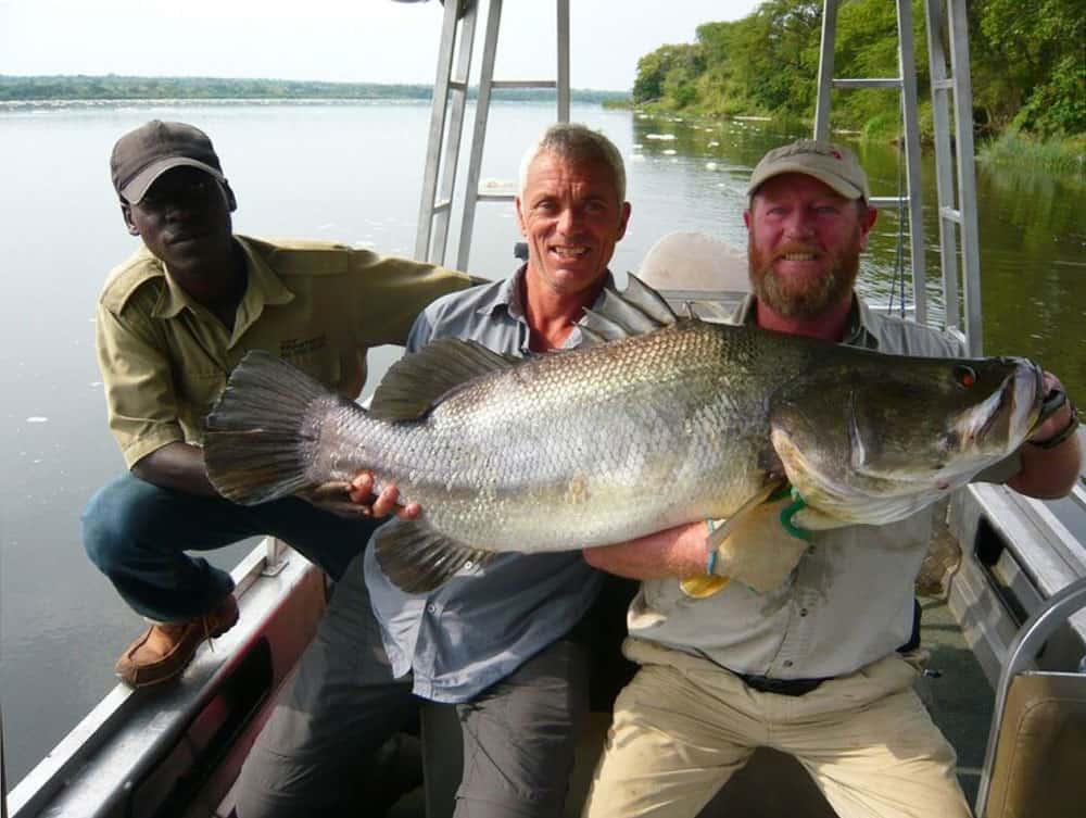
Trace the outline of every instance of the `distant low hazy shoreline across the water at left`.
{"label": "distant low hazy shoreline across the water at left", "polygon": [[[428,85],[379,83],[326,83],[294,79],[224,79],[218,77],[11,76],[0,75],[0,102],[358,102],[377,100],[429,100]],[[478,88],[468,89],[473,99]],[[495,100],[545,101],[554,91],[502,88]],[[629,99],[624,91],[571,89],[570,99],[604,103]]]}

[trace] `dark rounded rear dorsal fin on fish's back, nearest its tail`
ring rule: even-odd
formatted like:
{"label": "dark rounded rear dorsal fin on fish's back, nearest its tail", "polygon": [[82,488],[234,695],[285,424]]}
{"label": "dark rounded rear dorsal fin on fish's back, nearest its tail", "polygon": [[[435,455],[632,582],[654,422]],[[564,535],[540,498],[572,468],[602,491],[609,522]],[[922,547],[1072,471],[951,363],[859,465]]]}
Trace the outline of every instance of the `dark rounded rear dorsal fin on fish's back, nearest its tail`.
{"label": "dark rounded rear dorsal fin on fish's back, nearest its tail", "polygon": [[452,390],[481,375],[523,363],[476,341],[442,338],[389,367],[374,393],[369,414],[381,420],[416,420]]}

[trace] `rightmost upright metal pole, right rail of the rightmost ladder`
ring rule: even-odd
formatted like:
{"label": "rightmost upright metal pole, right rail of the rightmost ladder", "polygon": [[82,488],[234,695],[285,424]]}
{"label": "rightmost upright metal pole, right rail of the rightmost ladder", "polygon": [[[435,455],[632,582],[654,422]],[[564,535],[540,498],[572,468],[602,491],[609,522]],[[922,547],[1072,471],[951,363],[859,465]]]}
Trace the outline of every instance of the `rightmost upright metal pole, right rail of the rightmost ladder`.
{"label": "rightmost upright metal pole, right rail of the rightmost ladder", "polygon": [[984,350],[984,329],[981,326],[981,238],[976,226],[973,85],[969,77],[969,22],[965,18],[964,0],[949,0],[949,11],[958,210],[961,214],[961,263],[965,292],[965,341],[969,354],[978,356]]}

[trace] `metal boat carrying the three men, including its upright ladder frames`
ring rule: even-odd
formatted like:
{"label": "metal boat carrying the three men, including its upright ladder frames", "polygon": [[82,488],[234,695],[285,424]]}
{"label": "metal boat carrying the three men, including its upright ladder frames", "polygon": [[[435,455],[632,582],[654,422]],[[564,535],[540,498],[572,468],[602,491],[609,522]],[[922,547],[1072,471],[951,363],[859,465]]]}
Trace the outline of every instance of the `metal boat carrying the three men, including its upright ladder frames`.
{"label": "metal boat carrying the three men, including its upright ladder frames", "polygon": [[[912,4],[894,0],[899,23],[897,77],[834,78],[837,0],[825,0],[815,135],[831,129],[831,89],[885,87],[900,95],[906,189],[875,197],[911,226],[912,317],[930,318],[925,299],[920,199],[920,137],[913,61]],[[935,118],[945,322],[974,354],[981,335],[976,201],[969,43],[964,0],[924,0]],[[484,8],[485,7],[485,8]],[[557,0],[554,80],[495,81],[501,0],[447,2],[438,59],[427,169],[420,197],[416,257],[445,261],[456,188],[456,158],[466,122],[468,75],[477,21],[485,13],[482,68],[459,207],[454,266],[469,267],[477,203],[512,194],[479,190],[490,95],[500,87],[555,89],[556,118],[569,116],[569,0]],[[455,64],[454,64],[455,59]],[[954,133],[951,133],[951,123]],[[927,205],[933,206],[933,205]],[[720,264],[722,250],[704,237],[672,237],[684,274],[657,286],[677,304],[718,313],[742,295],[745,273]],[[702,254],[692,251],[698,246]],[[673,243],[672,246],[673,247]],[[669,267],[667,241],[646,257],[651,280]],[[670,265],[673,266],[673,265]],[[655,270],[655,272],[654,272]],[[736,272],[737,270],[737,272]],[[1056,503],[1002,487],[973,484],[946,507],[918,583],[922,640],[931,653],[920,693],[959,754],[959,777],[976,814],[1079,815],[1086,803],[1077,769],[1086,760],[1086,478]],[[241,620],[202,647],[179,683],[134,691],[118,684],[8,794],[5,815],[97,818],[227,818],[231,786],[276,693],[312,638],[326,601],[323,575],[289,545],[268,540],[233,570]],[[570,784],[577,815],[609,714],[594,714]],[[392,807],[400,818],[451,814],[459,778],[457,726],[450,709],[424,713],[420,754],[425,785]],[[703,813],[714,816],[832,816],[797,764],[759,751]]]}

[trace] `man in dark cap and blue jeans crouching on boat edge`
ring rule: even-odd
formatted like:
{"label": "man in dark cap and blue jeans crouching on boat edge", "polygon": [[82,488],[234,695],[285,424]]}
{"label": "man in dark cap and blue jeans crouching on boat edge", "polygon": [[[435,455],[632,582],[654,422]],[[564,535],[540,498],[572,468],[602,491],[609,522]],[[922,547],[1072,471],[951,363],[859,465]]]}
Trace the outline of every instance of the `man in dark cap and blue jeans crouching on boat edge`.
{"label": "man in dark cap and blue jeans crouching on boat edge", "polygon": [[110,273],[98,306],[110,428],[129,471],[91,499],[84,544],[152,622],[116,666],[141,687],[179,675],[238,618],[229,575],[186,550],[274,534],[338,578],[372,532],[368,515],[395,508],[394,490],[362,511],[338,487],[319,503],[220,498],[204,471],[203,419],[242,355],[267,350],[354,399],[366,351],[404,343],[422,307],[470,280],[340,244],[233,235],[233,191],[191,125],[126,134],[110,166],[128,232],[143,243]]}

